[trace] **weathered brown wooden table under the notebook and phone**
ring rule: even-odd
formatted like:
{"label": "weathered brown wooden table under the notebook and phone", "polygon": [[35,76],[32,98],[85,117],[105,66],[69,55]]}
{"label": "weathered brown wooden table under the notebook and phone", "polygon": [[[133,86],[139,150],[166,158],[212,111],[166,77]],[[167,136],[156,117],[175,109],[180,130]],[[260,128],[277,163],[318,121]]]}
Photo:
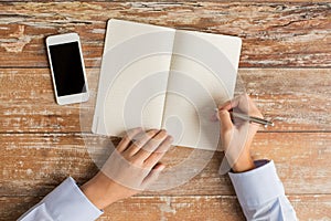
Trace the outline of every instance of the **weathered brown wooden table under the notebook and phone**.
{"label": "weathered brown wooden table under the notebook and phone", "polygon": [[[97,171],[79,113],[54,101],[44,38],[77,32],[96,93],[106,21],[118,18],[243,39],[239,74],[276,126],[256,136],[255,158],[271,158],[300,220],[331,220],[331,4],[324,0],[0,3],[0,219],[14,220],[67,176]],[[87,125],[92,117],[85,118]],[[82,135],[83,133],[83,135]],[[186,148],[166,160],[180,161]],[[106,209],[100,220],[244,220],[222,154],[188,183],[142,192]]]}

